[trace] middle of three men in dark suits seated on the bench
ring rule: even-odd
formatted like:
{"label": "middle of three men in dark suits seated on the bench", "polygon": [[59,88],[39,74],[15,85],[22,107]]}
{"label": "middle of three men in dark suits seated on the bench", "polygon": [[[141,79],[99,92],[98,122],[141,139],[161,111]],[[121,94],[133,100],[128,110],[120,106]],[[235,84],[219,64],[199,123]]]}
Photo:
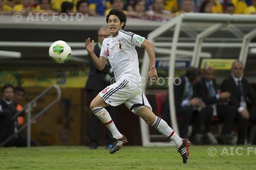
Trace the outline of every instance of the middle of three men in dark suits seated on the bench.
{"label": "middle of three men in dark suits seated on the bench", "polygon": [[[203,71],[203,77],[196,84],[197,95],[203,100],[206,107],[202,109],[204,115],[204,135],[206,143],[217,144],[217,140],[210,132],[211,117],[214,112],[223,121],[223,129],[219,137],[220,144],[231,144],[231,131],[233,128],[236,108],[227,105],[230,93],[227,91],[219,92],[215,80],[215,70],[211,66],[206,66]],[[208,142],[207,142],[208,141]]]}

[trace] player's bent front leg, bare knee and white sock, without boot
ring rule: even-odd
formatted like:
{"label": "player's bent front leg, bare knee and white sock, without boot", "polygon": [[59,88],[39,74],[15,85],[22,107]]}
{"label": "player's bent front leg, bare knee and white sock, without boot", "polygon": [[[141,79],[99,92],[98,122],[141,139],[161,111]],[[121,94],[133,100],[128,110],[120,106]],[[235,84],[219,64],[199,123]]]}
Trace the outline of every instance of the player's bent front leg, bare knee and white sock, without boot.
{"label": "player's bent front leg, bare knee and white sock, without boot", "polygon": [[117,130],[109,112],[104,108],[109,106],[98,94],[90,104],[92,112],[101,120],[101,122],[110,130],[114,138],[121,138],[122,134]]}

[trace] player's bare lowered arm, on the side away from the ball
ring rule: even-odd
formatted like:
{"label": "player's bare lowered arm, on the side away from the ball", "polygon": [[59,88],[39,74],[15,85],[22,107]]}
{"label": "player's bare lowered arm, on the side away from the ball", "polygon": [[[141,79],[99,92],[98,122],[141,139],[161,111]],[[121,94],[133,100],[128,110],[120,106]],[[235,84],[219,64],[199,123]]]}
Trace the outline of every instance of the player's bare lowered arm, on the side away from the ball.
{"label": "player's bare lowered arm, on the side away from the ball", "polygon": [[156,70],[156,56],[154,45],[152,42],[148,41],[147,39],[144,39],[144,41],[141,44],[141,47],[144,47],[146,49],[148,58],[150,58],[150,71],[148,71],[147,79],[151,79],[153,81],[153,84],[155,84],[156,81],[159,80],[159,78],[157,76]]}

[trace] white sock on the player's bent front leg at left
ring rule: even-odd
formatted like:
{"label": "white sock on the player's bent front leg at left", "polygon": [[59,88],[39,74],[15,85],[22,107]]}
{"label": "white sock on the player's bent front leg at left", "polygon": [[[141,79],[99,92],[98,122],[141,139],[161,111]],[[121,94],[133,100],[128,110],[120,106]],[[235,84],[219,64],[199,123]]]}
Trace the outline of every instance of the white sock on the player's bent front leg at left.
{"label": "white sock on the player's bent front leg at left", "polygon": [[113,137],[118,139],[122,137],[122,134],[117,130],[110,114],[103,107],[96,107],[92,109],[92,112],[101,120],[101,122],[110,130]]}

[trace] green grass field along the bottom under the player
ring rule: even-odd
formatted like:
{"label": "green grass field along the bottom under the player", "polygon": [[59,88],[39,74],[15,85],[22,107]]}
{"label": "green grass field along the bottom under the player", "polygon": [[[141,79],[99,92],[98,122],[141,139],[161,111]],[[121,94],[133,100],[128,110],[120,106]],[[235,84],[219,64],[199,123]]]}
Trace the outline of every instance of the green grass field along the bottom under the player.
{"label": "green grass field along the bottom under the player", "polygon": [[[207,154],[210,147],[216,148],[215,156]],[[234,147],[233,152],[229,147]],[[0,148],[0,169],[255,169],[256,145],[248,147],[253,148],[191,146],[187,164],[175,147],[126,146],[114,155],[103,147]]]}

